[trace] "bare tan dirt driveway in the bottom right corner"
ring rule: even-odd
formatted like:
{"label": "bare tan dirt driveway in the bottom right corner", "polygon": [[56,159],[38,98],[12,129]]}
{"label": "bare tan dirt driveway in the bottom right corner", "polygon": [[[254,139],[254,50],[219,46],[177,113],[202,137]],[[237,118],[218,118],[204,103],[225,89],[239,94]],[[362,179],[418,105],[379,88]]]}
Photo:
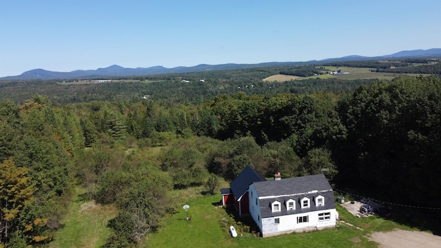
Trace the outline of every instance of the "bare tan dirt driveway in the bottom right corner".
{"label": "bare tan dirt driveway in the bottom right corner", "polygon": [[378,242],[380,248],[440,248],[441,236],[426,233],[424,231],[404,231],[396,229],[388,232],[374,232],[369,240]]}

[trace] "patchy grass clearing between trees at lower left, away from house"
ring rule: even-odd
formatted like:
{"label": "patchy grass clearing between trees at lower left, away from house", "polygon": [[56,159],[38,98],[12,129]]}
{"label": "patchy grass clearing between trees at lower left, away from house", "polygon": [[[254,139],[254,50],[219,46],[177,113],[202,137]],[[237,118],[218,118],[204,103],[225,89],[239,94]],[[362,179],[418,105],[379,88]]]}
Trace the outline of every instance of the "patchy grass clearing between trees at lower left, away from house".
{"label": "patchy grass clearing between trees at lower left, away from house", "polygon": [[83,198],[85,189],[76,188],[74,199],[69,205],[68,214],[61,221],[61,229],[48,247],[101,247],[111,230],[107,223],[116,217],[116,207],[96,205]]}

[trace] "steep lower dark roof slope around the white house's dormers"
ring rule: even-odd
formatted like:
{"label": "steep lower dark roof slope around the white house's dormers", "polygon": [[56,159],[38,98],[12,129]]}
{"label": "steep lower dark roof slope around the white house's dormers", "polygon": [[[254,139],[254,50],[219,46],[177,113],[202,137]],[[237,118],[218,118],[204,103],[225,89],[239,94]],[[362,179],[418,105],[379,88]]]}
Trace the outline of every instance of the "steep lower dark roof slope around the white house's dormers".
{"label": "steep lower dark roof slope around the white house's dormers", "polygon": [[[276,197],[276,198],[265,198],[260,199],[260,216],[262,218],[268,218],[268,217],[276,217],[276,216],[285,216],[288,214],[300,214],[300,213],[307,213],[309,211],[320,211],[320,210],[328,210],[328,209],[335,209],[336,203],[334,200],[334,192],[333,191],[327,191],[327,192],[320,192],[320,195],[325,198],[325,205],[317,207],[316,203],[314,201],[315,197],[319,194],[313,193],[313,194],[299,194],[297,196],[282,196],[282,197]],[[300,206],[300,200],[304,197],[309,198],[309,207],[302,209]],[[296,202],[296,209],[294,210],[287,210],[287,200],[293,199]],[[271,211],[271,203],[274,203],[274,201],[278,200],[280,202],[280,211],[273,212]],[[252,204],[252,203],[250,203]]]}

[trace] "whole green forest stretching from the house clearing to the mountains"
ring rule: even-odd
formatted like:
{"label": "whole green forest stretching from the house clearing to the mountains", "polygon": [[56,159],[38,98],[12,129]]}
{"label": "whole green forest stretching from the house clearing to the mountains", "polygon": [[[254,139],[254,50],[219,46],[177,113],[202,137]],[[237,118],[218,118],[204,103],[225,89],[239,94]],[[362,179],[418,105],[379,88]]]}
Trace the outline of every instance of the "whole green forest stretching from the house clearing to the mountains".
{"label": "whole green forest stretching from the house clearing to the mountains", "polygon": [[50,243],[83,187],[118,209],[105,247],[130,247],[175,211],[171,192],[214,193],[246,165],[267,177],[323,173],[440,226],[439,76],[262,81],[281,70],[1,82],[1,244]]}

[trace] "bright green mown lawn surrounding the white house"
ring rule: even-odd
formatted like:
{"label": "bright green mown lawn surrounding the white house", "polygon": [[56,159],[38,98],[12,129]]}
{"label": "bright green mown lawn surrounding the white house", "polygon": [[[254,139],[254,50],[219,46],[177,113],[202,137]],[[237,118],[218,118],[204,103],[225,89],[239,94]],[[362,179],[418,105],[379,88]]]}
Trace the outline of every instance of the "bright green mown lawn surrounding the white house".
{"label": "bright green mown lawn surrounding the white house", "polygon": [[[183,194],[196,196],[197,193],[192,190],[192,193],[183,192]],[[410,229],[375,216],[356,218],[338,205],[340,220],[345,220],[354,227],[339,223],[334,229],[272,238],[260,238],[252,234],[240,233],[238,230],[238,238],[232,238],[222,220],[228,218],[227,212],[223,207],[216,206],[219,201],[220,194],[198,195],[192,200],[182,202],[182,205],[190,206],[188,214],[191,220],[185,220],[185,211],[179,207],[176,209],[176,214],[167,218],[161,229],[146,238],[143,247],[378,247],[376,242],[368,239],[371,232],[392,231],[396,228]]]}

